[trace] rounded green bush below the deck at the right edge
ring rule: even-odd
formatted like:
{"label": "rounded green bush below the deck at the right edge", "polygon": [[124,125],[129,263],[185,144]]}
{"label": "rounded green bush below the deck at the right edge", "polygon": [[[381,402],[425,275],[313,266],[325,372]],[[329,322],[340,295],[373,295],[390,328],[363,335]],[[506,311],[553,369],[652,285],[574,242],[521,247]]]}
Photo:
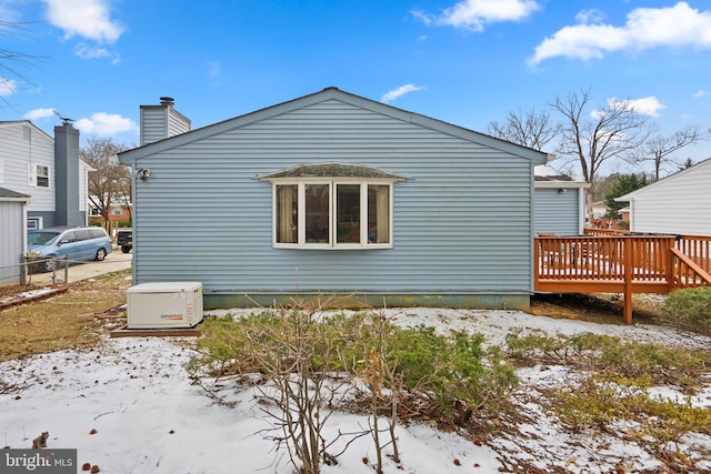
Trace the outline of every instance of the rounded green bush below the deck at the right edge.
{"label": "rounded green bush below the deck at the right edge", "polygon": [[711,288],[671,292],[661,309],[662,317],[677,327],[711,334]]}

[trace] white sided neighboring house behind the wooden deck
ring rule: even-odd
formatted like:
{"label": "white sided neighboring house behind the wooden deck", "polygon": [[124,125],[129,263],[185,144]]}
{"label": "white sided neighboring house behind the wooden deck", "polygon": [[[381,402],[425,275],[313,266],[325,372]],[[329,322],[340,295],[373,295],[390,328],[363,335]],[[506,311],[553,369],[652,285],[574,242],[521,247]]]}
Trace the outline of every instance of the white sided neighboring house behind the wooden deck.
{"label": "white sided neighboring house behind the wooden deck", "polygon": [[633,232],[711,235],[711,159],[615,201],[629,202]]}

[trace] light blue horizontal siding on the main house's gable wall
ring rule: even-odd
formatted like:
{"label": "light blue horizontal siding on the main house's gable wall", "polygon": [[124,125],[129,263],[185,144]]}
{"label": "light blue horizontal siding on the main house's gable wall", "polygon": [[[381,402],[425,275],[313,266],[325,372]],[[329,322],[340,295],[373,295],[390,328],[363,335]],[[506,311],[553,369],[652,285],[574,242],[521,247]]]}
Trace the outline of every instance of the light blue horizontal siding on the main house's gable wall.
{"label": "light blue horizontal siding on the main house's gable wall", "polygon": [[[393,248],[272,248],[272,185],[302,163],[364,164],[393,185]],[[140,160],[134,281],[201,281],[206,294],[528,294],[530,160],[338,100]]]}

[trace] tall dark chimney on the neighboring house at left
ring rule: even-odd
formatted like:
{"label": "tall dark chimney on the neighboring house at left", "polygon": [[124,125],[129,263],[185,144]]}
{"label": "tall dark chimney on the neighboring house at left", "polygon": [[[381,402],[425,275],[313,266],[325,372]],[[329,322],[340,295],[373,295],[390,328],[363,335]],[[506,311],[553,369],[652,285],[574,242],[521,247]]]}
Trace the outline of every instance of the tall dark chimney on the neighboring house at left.
{"label": "tall dark chimney on the neighboring house at left", "polygon": [[84,225],[79,189],[79,130],[66,120],[54,127],[54,225]]}

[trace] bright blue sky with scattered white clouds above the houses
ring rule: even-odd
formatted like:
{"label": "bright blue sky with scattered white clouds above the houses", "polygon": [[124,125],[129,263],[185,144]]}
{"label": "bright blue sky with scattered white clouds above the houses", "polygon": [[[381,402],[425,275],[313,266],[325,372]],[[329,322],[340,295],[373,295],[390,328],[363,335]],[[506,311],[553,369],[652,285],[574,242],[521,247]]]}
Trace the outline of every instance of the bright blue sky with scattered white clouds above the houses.
{"label": "bright blue sky with scattered white clouds above the houses", "polygon": [[583,89],[661,133],[711,127],[705,0],[0,0],[0,20],[23,26],[0,49],[38,57],[0,69],[0,120],[50,134],[57,110],[134,144],[161,95],[194,129],[327,87],[481,132]]}

